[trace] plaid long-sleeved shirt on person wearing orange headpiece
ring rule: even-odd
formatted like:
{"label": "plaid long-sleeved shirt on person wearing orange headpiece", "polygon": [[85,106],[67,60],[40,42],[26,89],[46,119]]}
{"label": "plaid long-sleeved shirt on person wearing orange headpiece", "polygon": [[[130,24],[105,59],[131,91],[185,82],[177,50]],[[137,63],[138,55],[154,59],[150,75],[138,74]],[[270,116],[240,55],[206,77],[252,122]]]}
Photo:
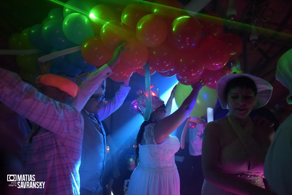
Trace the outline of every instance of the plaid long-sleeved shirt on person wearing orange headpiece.
{"label": "plaid long-sleeved shirt on person wearing orange headpiece", "polygon": [[79,194],[82,115],[1,68],[0,101],[43,127],[24,149],[25,174],[34,174],[35,181],[45,182],[44,188],[25,189],[25,194]]}

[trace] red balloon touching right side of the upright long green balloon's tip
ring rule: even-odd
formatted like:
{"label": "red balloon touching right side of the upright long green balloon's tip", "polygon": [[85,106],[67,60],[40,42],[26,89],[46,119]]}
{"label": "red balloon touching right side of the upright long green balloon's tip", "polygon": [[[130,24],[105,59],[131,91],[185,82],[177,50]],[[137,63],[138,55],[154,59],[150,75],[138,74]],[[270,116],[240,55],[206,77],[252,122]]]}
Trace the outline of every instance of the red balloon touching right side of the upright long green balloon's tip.
{"label": "red balloon touching right side of the upright long green balloon's tip", "polygon": [[148,62],[157,72],[167,72],[174,66],[173,48],[167,41],[149,49]]}

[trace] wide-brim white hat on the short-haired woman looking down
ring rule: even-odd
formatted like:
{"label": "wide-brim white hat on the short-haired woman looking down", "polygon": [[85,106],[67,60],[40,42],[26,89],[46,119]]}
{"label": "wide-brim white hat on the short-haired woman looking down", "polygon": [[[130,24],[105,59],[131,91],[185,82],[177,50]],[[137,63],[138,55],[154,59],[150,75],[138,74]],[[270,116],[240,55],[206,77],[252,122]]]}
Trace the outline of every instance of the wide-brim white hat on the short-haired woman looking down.
{"label": "wide-brim white hat on the short-haired woman looking down", "polygon": [[237,78],[237,77],[241,77],[241,76],[245,76],[245,77],[252,79],[255,82],[256,87],[258,89],[257,95],[256,95],[256,103],[253,106],[253,109],[265,106],[271,98],[272,90],[273,90],[272,85],[269,82],[267,82],[266,80],[261,79],[259,77],[249,75],[246,73],[236,73],[236,74],[230,74],[230,75],[223,76],[217,83],[217,94],[218,94],[218,99],[221,103],[222,108],[228,109],[227,101],[226,101],[226,98],[224,95],[226,84],[230,80]]}

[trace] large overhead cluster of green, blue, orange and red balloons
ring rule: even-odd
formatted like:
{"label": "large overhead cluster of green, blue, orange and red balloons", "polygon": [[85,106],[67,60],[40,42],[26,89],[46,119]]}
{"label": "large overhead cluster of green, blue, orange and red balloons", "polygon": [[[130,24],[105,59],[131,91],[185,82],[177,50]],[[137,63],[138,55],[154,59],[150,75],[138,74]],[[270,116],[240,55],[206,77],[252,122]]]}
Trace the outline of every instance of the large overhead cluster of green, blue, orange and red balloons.
{"label": "large overhead cluster of green, blue, orange and red balloons", "polygon": [[[112,80],[122,82],[135,72],[144,76],[145,71],[150,75],[157,71],[163,77],[176,75],[183,85],[178,88],[188,91],[185,87],[201,78],[210,104],[216,101],[212,90],[217,81],[229,73],[227,62],[242,51],[241,39],[223,33],[218,15],[194,17],[177,0],[133,1],[119,5],[120,11],[106,1],[92,7],[80,0],[62,5],[52,9],[42,24],[9,38],[9,49],[23,70],[36,69],[32,65],[36,59],[51,60],[55,70],[76,75],[105,64],[117,45],[126,41],[129,49],[113,69]],[[183,97],[176,99],[179,105]]]}

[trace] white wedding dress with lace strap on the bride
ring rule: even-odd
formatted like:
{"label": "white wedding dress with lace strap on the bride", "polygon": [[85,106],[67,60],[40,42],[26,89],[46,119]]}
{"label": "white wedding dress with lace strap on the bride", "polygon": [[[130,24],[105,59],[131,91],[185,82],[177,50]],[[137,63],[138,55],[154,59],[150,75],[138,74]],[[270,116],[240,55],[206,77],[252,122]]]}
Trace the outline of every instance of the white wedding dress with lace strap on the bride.
{"label": "white wedding dress with lace strap on the bride", "polygon": [[177,137],[168,135],[157,144],[153,126],[145,126],[145,145],[139,144],[140,162],[133,171],[127,195],[178,195],[180,178],[174,161],[174,154],[180,148]]}

